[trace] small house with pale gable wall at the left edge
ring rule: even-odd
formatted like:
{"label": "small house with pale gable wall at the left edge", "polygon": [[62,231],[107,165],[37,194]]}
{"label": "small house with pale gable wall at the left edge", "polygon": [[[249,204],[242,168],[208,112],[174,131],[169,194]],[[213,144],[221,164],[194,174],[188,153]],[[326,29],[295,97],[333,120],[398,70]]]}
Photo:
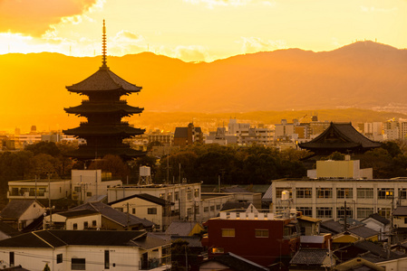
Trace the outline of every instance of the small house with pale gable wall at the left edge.
{"label": "small house with pale gable wall at the left edge", "polygon": [[0,212],[0,220],[21,230],[45,213],[43,204],[35,200],[11,200]]}

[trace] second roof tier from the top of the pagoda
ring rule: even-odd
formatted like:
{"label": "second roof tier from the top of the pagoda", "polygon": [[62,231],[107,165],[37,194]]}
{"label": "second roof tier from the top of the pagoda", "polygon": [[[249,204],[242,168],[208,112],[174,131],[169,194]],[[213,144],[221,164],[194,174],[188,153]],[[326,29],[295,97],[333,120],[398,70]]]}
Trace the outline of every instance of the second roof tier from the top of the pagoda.
{"label": "second roof tier from the top of the pagoda", "polygon": [[139,114],[144,108],[131,107],[125,103],[90,103],[82,102],[77,107],[63,108],[68,114],[85,115],[86,113],[121,113],[124,115]]}

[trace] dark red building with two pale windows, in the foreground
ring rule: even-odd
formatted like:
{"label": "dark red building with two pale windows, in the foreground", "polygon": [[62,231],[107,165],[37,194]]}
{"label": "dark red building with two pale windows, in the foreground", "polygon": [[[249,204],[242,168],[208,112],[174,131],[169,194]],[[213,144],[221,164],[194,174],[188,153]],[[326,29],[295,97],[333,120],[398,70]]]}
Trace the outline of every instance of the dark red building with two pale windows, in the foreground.
{"label": "dark red building with two pale windows, in the foreground", "polygon": [[202,245],[208,257],[232,252],[261,266],[287,264],[299,247],[299,227],[294,215],[235,210],[220,212],[219,218],[208,220],[208,236]]}

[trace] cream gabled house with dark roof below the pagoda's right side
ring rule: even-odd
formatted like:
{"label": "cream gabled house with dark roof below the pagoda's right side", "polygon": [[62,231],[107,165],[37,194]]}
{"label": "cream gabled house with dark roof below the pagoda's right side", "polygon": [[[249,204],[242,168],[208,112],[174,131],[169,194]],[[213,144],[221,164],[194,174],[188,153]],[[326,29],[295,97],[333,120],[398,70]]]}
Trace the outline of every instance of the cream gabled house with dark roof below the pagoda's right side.
{"label": "cream gabled house with dark roof below the pagoda's right side", "polygon": [[174,203],[147,193],[142,193],[131,195],[118,201],[111,201],[109,205],[115,210],[131,213],[139,218],[150,220],[155,224],[156,229],[165,230],[172,220],[171,206]]}

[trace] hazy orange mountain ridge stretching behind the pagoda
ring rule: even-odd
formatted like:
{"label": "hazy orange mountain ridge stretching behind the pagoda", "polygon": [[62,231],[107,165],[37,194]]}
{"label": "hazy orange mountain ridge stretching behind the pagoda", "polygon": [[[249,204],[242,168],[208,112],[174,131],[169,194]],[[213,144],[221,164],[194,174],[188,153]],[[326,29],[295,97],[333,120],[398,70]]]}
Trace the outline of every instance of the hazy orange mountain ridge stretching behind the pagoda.
{"label": "hazy orange mountain ridge stretching behind the pagoda", "polygon": [[[355,42],[334,51],[257,52],[210,63],[144,52],[108,57],[107,63],[121,78],[143,87],[139,96],[127,99],[145,112],[392,111],[395,103],[397,111],[407,108],[407,51],[375,42]],[[100,56],[0,55],[0,129],[21,126],[23,120],[51,128],[77,123],[79,118],[68,117],[63,107],[79,105],[83,97],[70,95],[65,86],[89,77],[101,65]]]}

